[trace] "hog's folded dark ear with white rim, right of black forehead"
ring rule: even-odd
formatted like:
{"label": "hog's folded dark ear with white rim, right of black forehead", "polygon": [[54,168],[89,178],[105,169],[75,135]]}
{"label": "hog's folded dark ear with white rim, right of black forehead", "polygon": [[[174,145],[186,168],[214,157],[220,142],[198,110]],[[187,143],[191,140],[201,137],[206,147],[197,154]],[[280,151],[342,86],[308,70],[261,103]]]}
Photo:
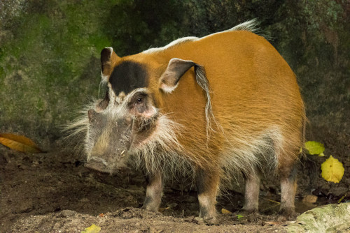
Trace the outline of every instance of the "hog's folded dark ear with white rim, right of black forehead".
{"label": "hog's folded dark ear with white rim, right of black forehead", "polygon": [[168,63],[167,69],[160,77],[160,89],[166,93],[174,91],[181,76],[186,73],[189,68],[195,65],[196,63],[193,61],[186,61],[177,58],[171,59]]}

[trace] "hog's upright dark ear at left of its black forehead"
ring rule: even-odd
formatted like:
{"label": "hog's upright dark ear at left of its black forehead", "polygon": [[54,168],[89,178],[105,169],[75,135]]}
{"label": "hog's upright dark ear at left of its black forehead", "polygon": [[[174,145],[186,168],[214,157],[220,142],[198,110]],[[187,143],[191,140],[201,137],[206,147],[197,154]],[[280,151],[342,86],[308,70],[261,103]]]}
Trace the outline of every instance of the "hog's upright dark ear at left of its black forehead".
{"label": "hog's upright dark ear at left of its black forehead", "polygon": [[101,51],[102,82],[108,82],[113,71],[113,64],[119,59],[120,57],[113,51],[113,47],[105,47]]}

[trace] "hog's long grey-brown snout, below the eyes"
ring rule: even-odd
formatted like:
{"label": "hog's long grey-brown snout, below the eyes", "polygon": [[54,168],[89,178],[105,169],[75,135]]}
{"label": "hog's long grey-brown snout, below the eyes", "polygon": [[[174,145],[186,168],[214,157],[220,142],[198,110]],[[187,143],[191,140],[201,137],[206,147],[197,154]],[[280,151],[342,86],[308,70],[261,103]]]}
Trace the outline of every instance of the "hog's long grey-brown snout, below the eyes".
{"label": "hog's long grey-brown snout, below the eyes", "polygon": [[87,117],[90,123],[85,167],[110,174],[126,167],[132,143],[132,117],[93,109],[87,111]]}

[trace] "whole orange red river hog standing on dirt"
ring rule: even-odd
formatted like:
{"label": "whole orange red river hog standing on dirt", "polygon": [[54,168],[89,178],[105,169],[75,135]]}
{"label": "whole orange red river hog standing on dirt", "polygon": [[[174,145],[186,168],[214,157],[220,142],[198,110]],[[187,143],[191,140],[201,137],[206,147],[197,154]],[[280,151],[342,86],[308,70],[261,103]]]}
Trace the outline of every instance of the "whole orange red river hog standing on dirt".
{"label": "whole orange red river hog standing on dirt", "polygon": [[165,179],[191,175],[207,223],[217,221],[221,183],[238,173],[244,211],[258,211],[260,176],[269,170],[281,182],[281,213],[293,215],[304,104],[295,74],[254,24],[126,57],[102,50],[106,96],[73,124],[85,133],[85,167],[137,167],[149,211],[158,211]]}

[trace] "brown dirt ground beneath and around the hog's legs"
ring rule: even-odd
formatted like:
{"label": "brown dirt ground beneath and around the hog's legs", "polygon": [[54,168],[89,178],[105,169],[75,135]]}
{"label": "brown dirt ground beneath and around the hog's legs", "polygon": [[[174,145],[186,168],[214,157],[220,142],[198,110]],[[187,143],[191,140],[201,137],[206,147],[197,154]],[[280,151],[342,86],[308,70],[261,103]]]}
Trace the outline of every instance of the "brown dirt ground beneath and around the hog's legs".
{"label": "brown dirt ground beneath and around the hog's legs", "polygon": [[[318,135],[327,132],[318,130]],[[325,158],[311,157],[300,168],[296,211],[350,200],[349,135],[330,135],[325,147],[344,164],[340,183],[321,178]],[[329,156],[329,151],[325,151]],[[260,186],[260,214],[237,218],[243,188],[235,186],[218,198],[220,225],[205,225],[198,216],[195,188],[167,183],[160,212],[139,209],[144,177],[132,171],[110,176],[85,169],[78,156],[59,149],[25,154],[0,145],[0,232],[81,232],[92,224],[100,232],[285,232],[279,209],[277,179]],[[316,198],[310,201],[309,197]],[[221,213],[227,209],[232,213]]]}

